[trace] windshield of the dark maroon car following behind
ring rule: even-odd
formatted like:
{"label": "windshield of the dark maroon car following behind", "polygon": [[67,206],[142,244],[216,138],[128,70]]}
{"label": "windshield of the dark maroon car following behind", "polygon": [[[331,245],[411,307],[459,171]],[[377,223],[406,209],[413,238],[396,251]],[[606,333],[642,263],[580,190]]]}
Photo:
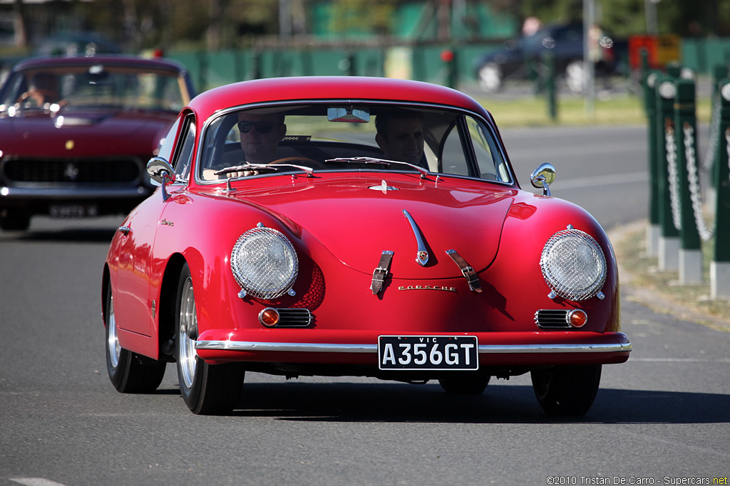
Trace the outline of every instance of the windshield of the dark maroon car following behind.
{"label": "windshield of the dark maroon car following behind", "polygon": [[121,109],[180,111],[183,83],[174,71],[113,66],[44,66],[13,73],[0,112]]}

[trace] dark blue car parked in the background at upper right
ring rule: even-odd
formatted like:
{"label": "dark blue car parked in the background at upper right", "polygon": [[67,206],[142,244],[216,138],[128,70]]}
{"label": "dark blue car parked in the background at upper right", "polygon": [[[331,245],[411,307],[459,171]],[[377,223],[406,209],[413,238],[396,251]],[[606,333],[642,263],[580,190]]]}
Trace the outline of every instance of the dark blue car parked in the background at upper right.
{"label": "dark blue car parked in the background at upper right", "polygon": [[[613,39],[596,33],[596,76],[612,74],[618,68]],[[583,92],[583,24],[548,26],[531,36],[506,42],[501,50],[477,58],[475,68],[480,87],[487,93],[499,90],[507,79],[527,79],[542,69],[545,54],[553,52],[558,74],[564,74],[569,88]]]}

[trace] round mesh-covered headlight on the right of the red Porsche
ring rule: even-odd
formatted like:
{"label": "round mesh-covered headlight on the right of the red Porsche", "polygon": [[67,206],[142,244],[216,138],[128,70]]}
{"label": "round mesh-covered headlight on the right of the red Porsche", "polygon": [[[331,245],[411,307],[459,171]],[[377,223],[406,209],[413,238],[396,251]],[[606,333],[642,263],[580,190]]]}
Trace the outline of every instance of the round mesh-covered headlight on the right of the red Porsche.
{"label": "round mesh-covered headlight on the right of the red Porsche", "polygon": [[550,289],[568,300],[590,299],[606,282],[606,256],[596,240],[580,230],[551,236],[542,248],[540,268]]}

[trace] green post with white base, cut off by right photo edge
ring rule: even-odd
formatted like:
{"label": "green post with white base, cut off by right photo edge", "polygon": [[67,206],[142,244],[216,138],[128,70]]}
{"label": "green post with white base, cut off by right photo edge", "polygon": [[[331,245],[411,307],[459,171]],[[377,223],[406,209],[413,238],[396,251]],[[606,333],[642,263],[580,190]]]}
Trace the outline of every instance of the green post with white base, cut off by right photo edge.
{"label": "green post with white base, cut off by right photo edge", "polygon": [[719,140],[715,161],[715,247],[710,263],[710,297],[730,298],[730,79],[720,85]]}

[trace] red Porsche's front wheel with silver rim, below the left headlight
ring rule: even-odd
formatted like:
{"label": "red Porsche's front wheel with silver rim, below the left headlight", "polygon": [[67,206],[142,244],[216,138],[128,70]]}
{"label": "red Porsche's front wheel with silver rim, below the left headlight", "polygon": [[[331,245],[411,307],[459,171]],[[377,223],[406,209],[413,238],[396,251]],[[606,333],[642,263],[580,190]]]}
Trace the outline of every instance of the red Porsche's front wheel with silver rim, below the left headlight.
{"label": "red Porsche's front wheel with silver rim, below the left headlight", "polygon": [[198,317],[190,267],[180,272],[175,310],[175,358],[180,393],[188,408],[199,415],[231,412],[241,393],[244,371],[239,363],[207,364],[195,350]]}

